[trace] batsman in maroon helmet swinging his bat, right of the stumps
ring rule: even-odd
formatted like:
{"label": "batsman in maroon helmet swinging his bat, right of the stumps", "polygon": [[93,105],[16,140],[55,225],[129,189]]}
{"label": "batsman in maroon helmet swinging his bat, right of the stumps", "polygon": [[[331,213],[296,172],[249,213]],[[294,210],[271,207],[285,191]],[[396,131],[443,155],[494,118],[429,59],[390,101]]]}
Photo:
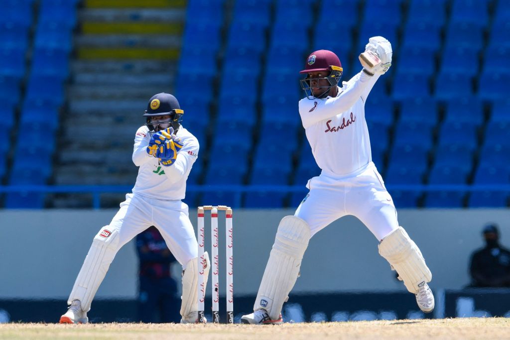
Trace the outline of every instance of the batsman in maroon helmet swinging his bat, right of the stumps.
{"label": "batsman in maroon helmet swinging his bat, right of the stumps", "polygon": [[300,71],[306,97],[299,115],[321,174],[307,183],[309,193],[294,216],[278,225],[254,312],[241,318],[246,324],[281,324],[282,307],[297,277],[312,236],[331,222],[353,215],[379,242],[379,254],[396,270],[424,312],[434,308],[427,282],[430,270],[418,246],[397,221],[393,200],[372,162],[365,102],[392,61],[391,43],[372,37],[360,55],[363,69],[340,83],[342,64],[328,50],[313,52]]}

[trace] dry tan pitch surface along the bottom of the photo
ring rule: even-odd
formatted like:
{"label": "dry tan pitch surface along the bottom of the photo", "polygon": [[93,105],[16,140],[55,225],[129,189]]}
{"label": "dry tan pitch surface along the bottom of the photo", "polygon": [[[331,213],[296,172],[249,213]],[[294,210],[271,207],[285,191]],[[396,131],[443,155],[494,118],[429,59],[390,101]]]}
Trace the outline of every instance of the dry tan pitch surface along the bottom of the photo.
{"label": "dry tan pitch surface along the bottom of the photo", "polygon": [[0,339],[510,339],[510,319],[466,318],[249,325],[0,324]]}

